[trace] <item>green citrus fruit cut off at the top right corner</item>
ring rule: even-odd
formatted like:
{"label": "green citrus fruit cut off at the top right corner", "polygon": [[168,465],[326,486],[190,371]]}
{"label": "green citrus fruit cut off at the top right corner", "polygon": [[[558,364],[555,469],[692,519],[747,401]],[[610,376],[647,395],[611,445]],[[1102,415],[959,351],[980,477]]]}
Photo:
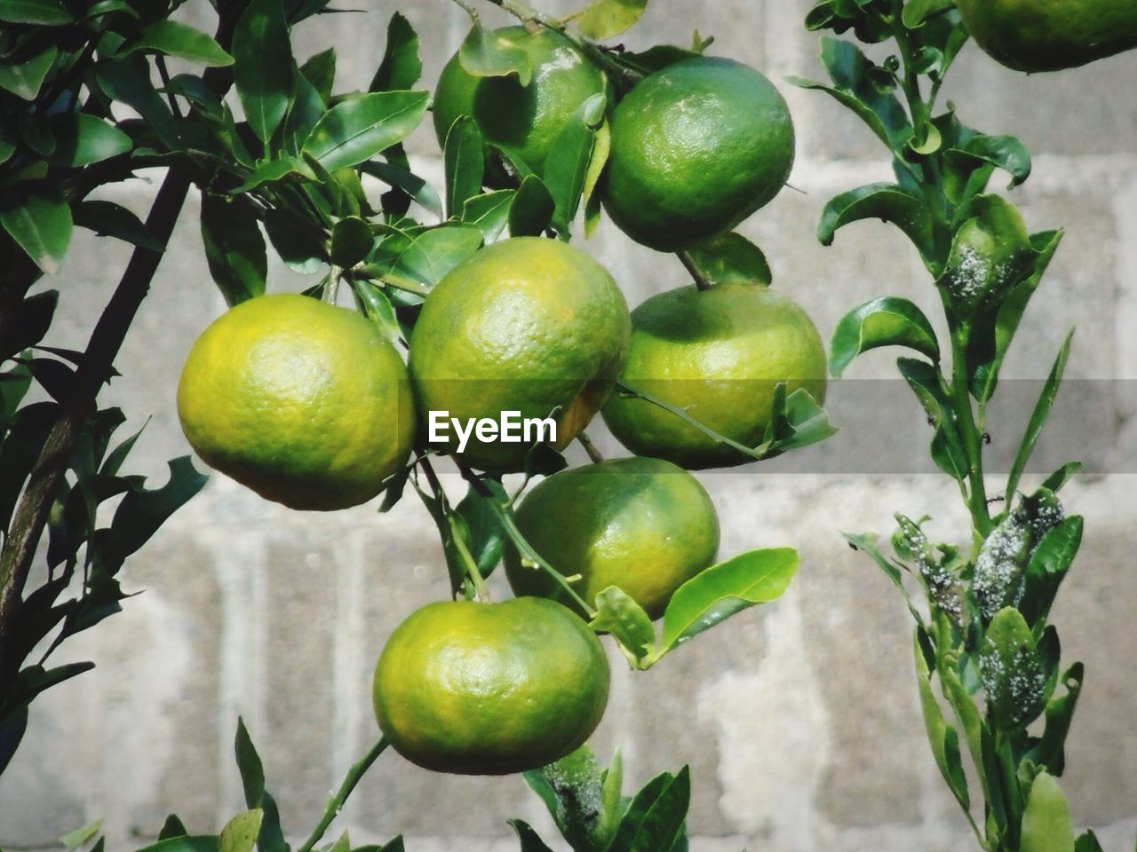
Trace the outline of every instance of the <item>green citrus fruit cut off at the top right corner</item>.
{"label": "green citrus fruit cut off at the top right corner", "polygon": [[995,60],[1059,70],[1137,48],[1134,0],[957,0],[963,24]]}

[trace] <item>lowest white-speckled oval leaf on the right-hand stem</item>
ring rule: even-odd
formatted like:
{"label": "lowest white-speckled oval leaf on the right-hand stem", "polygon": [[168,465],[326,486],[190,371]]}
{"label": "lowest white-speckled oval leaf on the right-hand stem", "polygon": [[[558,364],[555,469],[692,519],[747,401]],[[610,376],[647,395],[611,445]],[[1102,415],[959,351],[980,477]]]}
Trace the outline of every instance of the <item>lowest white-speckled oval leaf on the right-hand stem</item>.
{"label": "lowest white-speckled oval leaf on the right-hand stem", "polygon": [[1041,660],[1030,627],[1013,607],[1001,609],[987,626],[979,652],[979,675],[1001,729],[1026,727],[1041,712]]}

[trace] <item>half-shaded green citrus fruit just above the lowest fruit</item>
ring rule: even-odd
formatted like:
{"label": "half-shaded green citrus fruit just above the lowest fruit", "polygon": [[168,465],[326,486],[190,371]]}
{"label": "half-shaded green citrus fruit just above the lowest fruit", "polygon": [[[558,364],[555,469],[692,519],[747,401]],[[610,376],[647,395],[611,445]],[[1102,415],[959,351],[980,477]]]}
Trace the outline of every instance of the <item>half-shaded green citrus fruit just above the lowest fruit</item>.
{"label": "half-shaded green citrus fruit just above the lowest fruit", "polygon": [[[719,518],[698,479],[670,461],[615,459],[562,470],[543,479],[516,511],[517,528],[554,568],[581,579],[574,591],[589,603],[620,586],[650,618],[671,595],[714,562]],[[542,570],[505,548],[509,585],[517,594],[568,604]],[[570,604],[571,605],[571,604]]]}

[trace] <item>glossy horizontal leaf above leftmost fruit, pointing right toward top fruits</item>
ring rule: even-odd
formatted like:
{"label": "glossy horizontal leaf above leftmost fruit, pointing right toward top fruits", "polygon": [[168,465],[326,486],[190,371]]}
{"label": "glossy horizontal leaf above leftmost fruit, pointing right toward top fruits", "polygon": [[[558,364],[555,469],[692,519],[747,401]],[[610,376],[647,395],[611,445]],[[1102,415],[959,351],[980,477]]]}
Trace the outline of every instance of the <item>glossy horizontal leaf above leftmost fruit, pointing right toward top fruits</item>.
{"label": "glossy horizontal leaf above leftmost fruit, pointing right toward top fruits", "polygon": [[330,109],[304,143],[304,152],[325,169],[371,159],[401,142],[418,126],[429,92],[373,92],[341,101]]}

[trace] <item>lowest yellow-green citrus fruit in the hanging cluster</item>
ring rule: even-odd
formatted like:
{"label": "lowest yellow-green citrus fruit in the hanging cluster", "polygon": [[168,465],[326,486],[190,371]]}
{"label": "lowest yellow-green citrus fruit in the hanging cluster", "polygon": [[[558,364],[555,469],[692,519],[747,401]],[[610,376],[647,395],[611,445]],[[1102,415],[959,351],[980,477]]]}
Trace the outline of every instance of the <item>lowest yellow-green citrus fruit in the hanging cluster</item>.
{"label": "lowest yellow-green citrus fruit in the hanging cluster", "polygon": [[608,701],[608,659],[541,598],[430,603],[375,666],[375,718],[399,754],[441,772],[537,769],[580,746]]}

